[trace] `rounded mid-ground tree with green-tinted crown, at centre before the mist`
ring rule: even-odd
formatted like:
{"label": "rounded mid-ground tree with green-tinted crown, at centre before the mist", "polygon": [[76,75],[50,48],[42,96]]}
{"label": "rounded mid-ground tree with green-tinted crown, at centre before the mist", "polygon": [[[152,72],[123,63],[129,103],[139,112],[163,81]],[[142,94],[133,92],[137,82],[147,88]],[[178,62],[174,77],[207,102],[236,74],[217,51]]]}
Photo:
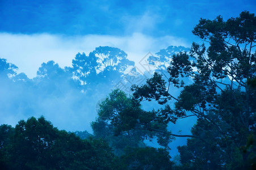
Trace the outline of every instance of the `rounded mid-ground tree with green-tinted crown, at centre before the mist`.
{"label": "rounded mid-ground tree with green-tinted crown, at centre before the mist", "polygon": [[144,132],[135,130],[140,104],[123,91],[113,91],[100,103],[98,118],[91,123],[96,138],[103,138],[114,148],[115,155],[124,154],[124,148],[143,146]]}

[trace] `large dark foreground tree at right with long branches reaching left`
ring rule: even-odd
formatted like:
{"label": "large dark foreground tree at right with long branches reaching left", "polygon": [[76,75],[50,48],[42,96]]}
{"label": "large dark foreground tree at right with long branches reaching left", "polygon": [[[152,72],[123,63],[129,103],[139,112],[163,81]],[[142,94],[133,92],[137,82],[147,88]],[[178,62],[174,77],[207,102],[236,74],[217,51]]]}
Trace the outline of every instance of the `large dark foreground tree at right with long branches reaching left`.
{"label": "large dark foreground tree at right with long branches reaching left", "polygon": [[[256,46],[256,17],[244,11],[239,17],[226,22],[221,16],[215,20],[200,19],[192,32],[209,43],[208,48],[193,42],[189,54],[173,55],[167,67],[167,79],[161,73],[155,73],[146,84],[132,87],[133,100],[139,103],[156,100],[162,108],[137,112],[133,124],[123,127],[123,121],[130,117],[129,114],[114,112],[119,124],[113,125],[121,131],[140,126],[140,129],[173,137],[190,137],[192,139],[188,141],[202,142],[202,145],[194,145],[201,151],[205,146],[219,147],[216,154],[212,154],[219,159],[205,157],[213,151],[209,147],[206,148],[208,151],[200,152],[206,160],[202,165],[208,164],[208,169],[216,166],[236,168],[234,160],[241,162],[240,168],[255,166],[247,162],[250,154],[255,155],[255,147],[246,153],[240,148],[246,145],[249,135],[255,134],[256,127],[256,91],[246,83],[256,76],[253,51]],[[175,88],[181,91],[178,96],[172,94]],[[191,116],[198,119],[192,135],[177,135],[166,129],[169,123],[175,124],[178,119]],[[193,153],[195,150],[191,146],[188,142]],[[233,154],[230,155],[229,151]],[[221,164],[217,163],[220,159]],[[193,160],[191,157],[192,164],[195,163]]]}

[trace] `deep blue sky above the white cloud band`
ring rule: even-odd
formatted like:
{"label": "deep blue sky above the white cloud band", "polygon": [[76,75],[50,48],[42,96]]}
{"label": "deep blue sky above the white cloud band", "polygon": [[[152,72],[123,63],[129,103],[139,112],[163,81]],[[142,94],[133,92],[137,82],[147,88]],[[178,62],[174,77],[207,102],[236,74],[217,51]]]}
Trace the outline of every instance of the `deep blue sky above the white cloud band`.
{"label": "deep blue sky above the white cloud band", "polygon": [[255,12],[256,2],[244,1],[83,1],[1,0],[0,31],[64,35],[186,37],[200,18],[228,19],[241,11]]}

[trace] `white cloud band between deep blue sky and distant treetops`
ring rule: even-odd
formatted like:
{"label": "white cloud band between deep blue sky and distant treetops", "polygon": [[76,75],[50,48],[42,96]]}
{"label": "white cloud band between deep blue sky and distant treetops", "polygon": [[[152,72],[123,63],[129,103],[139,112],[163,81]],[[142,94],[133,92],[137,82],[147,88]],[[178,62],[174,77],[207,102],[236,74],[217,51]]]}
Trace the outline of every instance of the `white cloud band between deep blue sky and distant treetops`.
{"label": "white cloud band between deep blue sky and distant treetops", "polygon": [[49,34],[23,35],[0,33],[0,58],[19,67],[18,73],[36,76],[41,63],[53,60],[61,67],[71,66],[78,52],[89,54],[98,46],[113,46],[124,50],[137,64],[148,52],[153,54],[169,45],[190,46],[174,36],[151,37],[142,33],[131,36],[86,35],[60,36]]}

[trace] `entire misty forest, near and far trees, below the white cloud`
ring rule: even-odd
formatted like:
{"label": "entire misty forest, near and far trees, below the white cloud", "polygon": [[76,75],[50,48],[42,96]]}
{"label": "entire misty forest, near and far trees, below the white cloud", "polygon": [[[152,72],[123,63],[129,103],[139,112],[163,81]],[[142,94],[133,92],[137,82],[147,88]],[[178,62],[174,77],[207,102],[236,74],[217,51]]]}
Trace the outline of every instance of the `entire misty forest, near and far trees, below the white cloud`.
{"label": "entire misty forest, near and far trees, below the white cloud", "polygon": [[[0,168],[256,169],[256,16],[200,19],[192,33],[201,44],[160,50],[144,74],[110,46],[78,53],[72,67],[42,63],[33,79],[1,58],[0,112],[30,118],[0,126]],[[68,112],[72,126],[101,98],[93,134],[47,120]],[[191,134],[172,131],[192,117]],[[171,158],[175,138],[187,143]]]}

